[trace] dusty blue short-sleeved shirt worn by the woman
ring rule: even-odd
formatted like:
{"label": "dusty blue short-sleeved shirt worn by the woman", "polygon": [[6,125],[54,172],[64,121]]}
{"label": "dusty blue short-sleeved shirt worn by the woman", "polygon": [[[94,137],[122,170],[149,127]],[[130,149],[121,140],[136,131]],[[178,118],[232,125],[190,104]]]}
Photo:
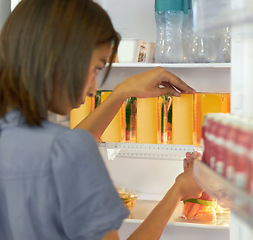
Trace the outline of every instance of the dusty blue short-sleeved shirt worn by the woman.
{"label": "dusty blue short-sleeved shirt worn by the woman", "polygon": [[0,239],[97,240],[129,214],[93,137],[14,110],[0,119]]}

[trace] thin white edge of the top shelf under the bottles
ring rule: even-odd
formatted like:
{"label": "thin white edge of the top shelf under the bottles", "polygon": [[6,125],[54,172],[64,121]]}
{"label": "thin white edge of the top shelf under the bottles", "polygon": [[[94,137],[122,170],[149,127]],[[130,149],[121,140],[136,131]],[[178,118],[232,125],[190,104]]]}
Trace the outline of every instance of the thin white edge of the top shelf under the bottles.
{"label": "thin white edge of the top shelf under the bottles", "polygon": [[230,68],[230,63],[113,63],[113,68]]}

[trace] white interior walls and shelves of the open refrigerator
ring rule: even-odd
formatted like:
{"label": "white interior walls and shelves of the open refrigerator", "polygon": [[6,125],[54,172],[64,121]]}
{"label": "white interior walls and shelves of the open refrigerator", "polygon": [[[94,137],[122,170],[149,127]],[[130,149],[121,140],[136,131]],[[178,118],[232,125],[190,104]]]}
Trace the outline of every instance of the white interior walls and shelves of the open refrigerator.
{"label": "white interior walls and shelves of the open refrigerator", "polygon": [[[156,41],[154,0],[97,1],[109,13],[122,39]],[[112,90],[125,78],[162,66],[178,75],[198,92],[230,93],[230,64],[154,64],[115,63],[107,82],[101,90]],[[103,72],[101,72],[103,76]],[[102,77],[98,77],[100,81]],[[99,85],[98,85],[99,86]],[[103,143],[100,150],[116,186],[136,191],[139,195],[135,207],[120,229],[121,239],[143,221],[147,214],[174,183],[175,177],[183,171],[185,153],[194,146]],[[178,148],[179,149],[176,149]],[[144,154],[145,153],[145,154]],[[179,219],[182,204],[168,222],[161,239],[229,239],[229,217],[224,215],[213,224],[184,222]]]}

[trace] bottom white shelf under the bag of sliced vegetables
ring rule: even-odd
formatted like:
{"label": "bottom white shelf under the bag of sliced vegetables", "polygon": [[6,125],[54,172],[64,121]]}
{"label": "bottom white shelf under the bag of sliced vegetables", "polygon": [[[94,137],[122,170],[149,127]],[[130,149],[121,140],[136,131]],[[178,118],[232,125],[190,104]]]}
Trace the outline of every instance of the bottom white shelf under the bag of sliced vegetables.
{"label": "bottom white shelf under the bag of sliced vegetables", "polygon": [[[152,209],[157,205],[157,201],[137,200],[136,205],[131,210],[128,219],[125,219],[119,229],[120,239],[127,239],[130,234],[143,222]],[[179,203],[165,229],[160,240],[168,239],[205,239],[205,240],[229,240],[229,216],[220,216],[220,219],[212,223],[186,222],[180,221],[182,203]]]}

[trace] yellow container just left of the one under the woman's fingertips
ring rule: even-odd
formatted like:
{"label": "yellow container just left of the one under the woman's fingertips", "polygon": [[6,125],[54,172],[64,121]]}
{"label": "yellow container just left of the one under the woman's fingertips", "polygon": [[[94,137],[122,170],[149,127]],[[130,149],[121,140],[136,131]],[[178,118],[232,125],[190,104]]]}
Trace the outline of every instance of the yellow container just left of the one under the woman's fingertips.
{"label": "yellow container just left of the one under the woman's fingertips", "polygon": [[161,121],[160,98],[138,98],[136,142],[161,143],[161,123],[159,121]]}

